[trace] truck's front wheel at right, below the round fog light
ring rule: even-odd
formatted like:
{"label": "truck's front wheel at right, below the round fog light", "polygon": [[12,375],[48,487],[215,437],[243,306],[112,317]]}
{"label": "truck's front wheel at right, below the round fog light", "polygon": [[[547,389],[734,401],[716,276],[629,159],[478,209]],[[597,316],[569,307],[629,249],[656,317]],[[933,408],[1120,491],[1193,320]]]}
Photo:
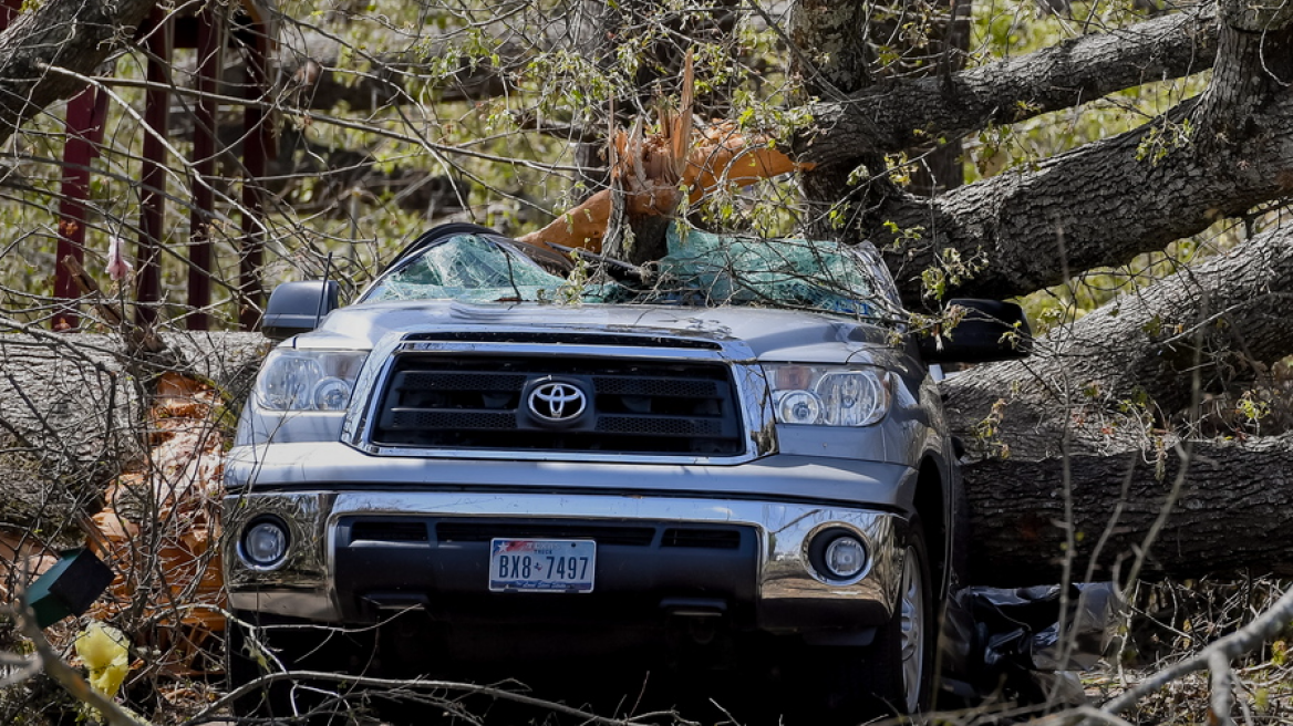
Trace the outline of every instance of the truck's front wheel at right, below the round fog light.
{"label": "truck's front wheel at right, below the round fog light", "polygon": [[903,552],[897,608],[862,655],[873,703],[888,713],[921,713],[930,707],[939,634],[935,597],[924,528],[913,517]]}

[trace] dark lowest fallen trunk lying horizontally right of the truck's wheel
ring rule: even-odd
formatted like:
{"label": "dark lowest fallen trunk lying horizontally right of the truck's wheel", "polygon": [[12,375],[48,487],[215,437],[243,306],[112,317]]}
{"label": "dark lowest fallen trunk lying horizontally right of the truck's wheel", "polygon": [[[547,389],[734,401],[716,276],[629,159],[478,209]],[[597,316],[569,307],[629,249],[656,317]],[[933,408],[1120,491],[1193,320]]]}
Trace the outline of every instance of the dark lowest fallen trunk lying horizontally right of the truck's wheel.
{"label": "dark lowest fallen trunk lying horizontally right of the truck's wheel", "polygon": [[1293,576],[1293,435],[987,460],[965,478],[976,584],[1122,579],[1142,553],[1148,577]]}

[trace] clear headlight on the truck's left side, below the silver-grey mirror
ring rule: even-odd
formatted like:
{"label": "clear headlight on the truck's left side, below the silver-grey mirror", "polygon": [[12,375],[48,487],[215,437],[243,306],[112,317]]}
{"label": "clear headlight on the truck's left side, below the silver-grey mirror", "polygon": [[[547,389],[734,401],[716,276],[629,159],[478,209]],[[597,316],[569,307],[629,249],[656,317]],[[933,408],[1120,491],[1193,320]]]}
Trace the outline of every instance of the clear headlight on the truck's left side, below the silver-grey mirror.
{"label": "clear headlight on the truck's left side, below the silver-grey mirror", "polygon": [[341,411],[367,353],[277,347],[256,379],[256,400],[270,411]]}

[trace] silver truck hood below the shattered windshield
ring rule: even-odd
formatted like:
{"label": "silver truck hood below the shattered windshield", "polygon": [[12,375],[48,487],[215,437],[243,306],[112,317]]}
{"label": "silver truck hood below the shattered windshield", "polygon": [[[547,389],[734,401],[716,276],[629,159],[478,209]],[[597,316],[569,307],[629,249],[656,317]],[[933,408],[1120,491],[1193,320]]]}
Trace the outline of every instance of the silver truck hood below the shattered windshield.
{"label": "silver truck hood below the shattered windshield", "polygon": [[387,336],[508,331],[741,341],[756,359],[800,363],[871,362],[882,350],[893,351],[900,337],[892,328],[843,315],[763,307],[393,301],[335,310],[319,329],[284,345],[366,350]]}

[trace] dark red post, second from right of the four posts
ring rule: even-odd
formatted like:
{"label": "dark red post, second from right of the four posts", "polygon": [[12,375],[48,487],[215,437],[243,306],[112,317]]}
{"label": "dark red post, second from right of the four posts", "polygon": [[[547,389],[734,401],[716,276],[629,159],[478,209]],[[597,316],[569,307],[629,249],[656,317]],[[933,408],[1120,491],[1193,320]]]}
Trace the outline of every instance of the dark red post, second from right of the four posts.
{"label": "dark red post, second from right of the four posts", "polygon": [[225,45],[225,14],[211,4],[198,13],[198,103],[193,129],[193,211],[189,214],[189,329],[211,326],[211,222],[216,208],[211,183],[216,176],[216,93]]}

